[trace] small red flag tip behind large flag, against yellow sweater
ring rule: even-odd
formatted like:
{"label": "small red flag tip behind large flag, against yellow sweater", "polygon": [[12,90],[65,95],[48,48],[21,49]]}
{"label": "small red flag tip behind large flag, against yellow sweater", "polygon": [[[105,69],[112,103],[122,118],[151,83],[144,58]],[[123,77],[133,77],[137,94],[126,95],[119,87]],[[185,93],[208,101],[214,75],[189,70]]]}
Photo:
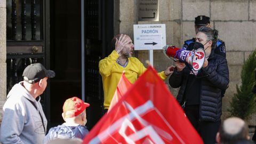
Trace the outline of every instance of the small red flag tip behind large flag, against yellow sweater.
{"label": "small red flag tip behind large flag, against yellow sweater", "polygon": [[128,81],[128,79],[125,77],[123,73],[117,85],[113,99],[110,102],[108,112],[110,111],[110,109],[112,109],[116,105],[116,103],[122,98],[122,96],[126,93],[126,91],[131,86],[132,86],[132,83]]}

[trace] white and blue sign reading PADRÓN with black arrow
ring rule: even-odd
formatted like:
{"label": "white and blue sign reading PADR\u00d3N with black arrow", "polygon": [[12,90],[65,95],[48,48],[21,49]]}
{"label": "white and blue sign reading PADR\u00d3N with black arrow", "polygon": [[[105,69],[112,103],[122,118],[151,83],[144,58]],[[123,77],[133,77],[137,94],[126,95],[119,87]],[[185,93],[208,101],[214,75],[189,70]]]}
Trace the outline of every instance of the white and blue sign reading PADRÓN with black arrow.
{"label": "white and blue sign reading PADR\u00d3N with black arrow", "polygon": [[162,50],[166,45],[165,24],[133,25],[134,50]]}

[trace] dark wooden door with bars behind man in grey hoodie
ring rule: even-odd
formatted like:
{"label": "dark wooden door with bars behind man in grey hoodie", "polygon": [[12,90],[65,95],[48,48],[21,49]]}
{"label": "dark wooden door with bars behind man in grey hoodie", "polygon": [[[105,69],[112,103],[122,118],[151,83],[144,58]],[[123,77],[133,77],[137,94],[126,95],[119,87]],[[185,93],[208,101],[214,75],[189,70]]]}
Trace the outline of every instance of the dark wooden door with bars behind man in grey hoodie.
{"label": "dark wooden door with bars behind man in grey hoodie", "polygon": [[[6,0],[7,93],[23,80],[22,72],[30,63],[41,62],[47,69],[50,67],[48,10],[49,0]],[[49,121],[49,86],[41,98]]]}

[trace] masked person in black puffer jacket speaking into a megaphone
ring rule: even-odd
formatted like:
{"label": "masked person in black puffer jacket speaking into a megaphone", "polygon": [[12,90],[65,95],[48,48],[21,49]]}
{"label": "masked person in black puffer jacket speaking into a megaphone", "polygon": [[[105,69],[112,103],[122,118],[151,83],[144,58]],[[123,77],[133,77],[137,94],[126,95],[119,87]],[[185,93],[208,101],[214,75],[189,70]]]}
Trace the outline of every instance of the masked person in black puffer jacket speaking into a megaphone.
{"label": "masked person in black puffer jacket speaking into a megaphone", "polygon": [[194,47],[205,50],[203,68],[195,71],[177,61],[169,79],[172,87],[180,87],[177,100],[206,144],[216,143],[215,135],[221,124],[221,90],[229,83],[227,60],[214,53],[217,39],[218,30],[200,28]]}

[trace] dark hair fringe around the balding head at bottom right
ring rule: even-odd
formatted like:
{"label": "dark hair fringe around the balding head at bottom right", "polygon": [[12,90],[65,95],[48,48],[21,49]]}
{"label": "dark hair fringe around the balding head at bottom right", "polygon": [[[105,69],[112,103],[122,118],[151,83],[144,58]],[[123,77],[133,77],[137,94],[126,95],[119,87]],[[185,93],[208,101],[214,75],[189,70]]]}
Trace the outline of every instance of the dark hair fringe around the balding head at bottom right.
{"label": "dark hair fringe around the balding head at bottom right", "polygon": [[241,127],[241,130],[239,130],[235,134],[230,134],[224,129],[224,122],[221,123],[219,133],[220,133],[220,143],[226,144],[226,143],[235,143],[239,140],[245,140],[247,139],[247,135],[249,135],[248,126],[246,123]]}

